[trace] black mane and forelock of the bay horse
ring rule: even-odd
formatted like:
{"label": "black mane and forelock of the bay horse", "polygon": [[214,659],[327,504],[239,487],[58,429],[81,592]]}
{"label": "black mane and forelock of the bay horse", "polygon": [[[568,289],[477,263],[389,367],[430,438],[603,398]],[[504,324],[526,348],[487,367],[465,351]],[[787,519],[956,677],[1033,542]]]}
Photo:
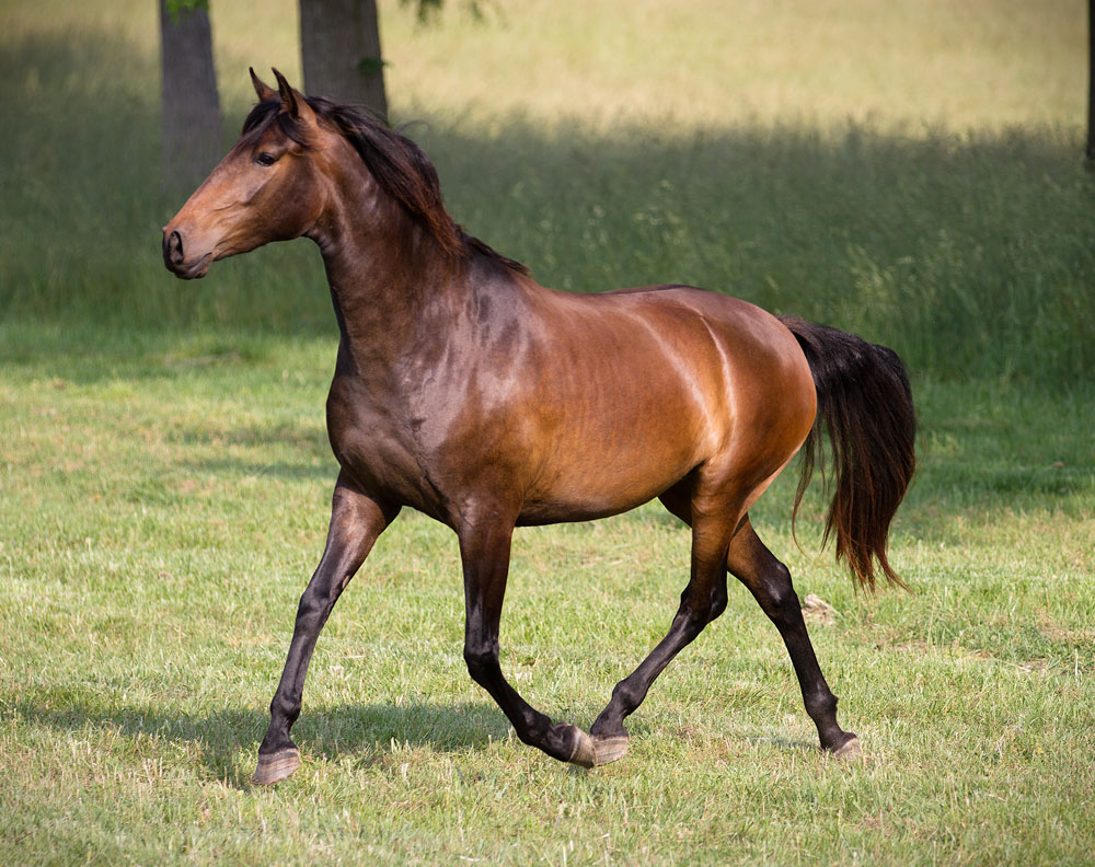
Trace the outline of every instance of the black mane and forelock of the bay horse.
{"label": "black mane and forelock of the bay horse", "polygon": [[[306,96],[304,100],[316,115],[332,124],[354,146],[381,189],[406,208],[446,253],[460,257],[477,253],[521,274],[529,273],[525,265],[492,250],[456,223],[445,209],[434,164],[411,139],[391,129],[368,109],[319,96]],[[243,135],[276,123],[284,135],[307,146],[297,123],[281,107],[277,100],[258,103],[243,123]]]}

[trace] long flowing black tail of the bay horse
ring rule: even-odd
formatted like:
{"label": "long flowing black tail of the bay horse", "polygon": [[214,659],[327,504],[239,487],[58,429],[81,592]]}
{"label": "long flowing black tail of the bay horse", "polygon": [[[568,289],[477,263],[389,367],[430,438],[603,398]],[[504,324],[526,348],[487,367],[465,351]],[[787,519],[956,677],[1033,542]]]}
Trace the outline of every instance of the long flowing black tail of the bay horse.
{"label": "long flowing black tail of the bay horse", "polygon": [[917,466],[912,389],[897,352],[854,334],[781,317],[798,339],[814,373],[818,416],[803,444],[795,515],[822,453],[821,421],[829,428],[835,492],[825,542],[837,540],[837,559],[861,586],[875,589],[877,568],[904,582],[886,558],[890,521]]}

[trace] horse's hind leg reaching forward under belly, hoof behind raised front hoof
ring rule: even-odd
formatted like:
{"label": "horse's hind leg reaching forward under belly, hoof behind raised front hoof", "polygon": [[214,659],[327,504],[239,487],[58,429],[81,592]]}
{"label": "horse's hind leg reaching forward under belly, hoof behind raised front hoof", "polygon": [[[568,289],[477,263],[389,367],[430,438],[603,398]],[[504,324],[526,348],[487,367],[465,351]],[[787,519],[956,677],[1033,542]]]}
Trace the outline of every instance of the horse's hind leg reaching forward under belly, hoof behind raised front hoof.
{"label": "horse's hind leg reaching forward under belly, hoof behind raised front hoof", "polygon": [[703,517],[691,521],[692,571],[681,593],[680,608],[666,637],[631,675],[615,685],[611,701],[589,729],[597,764],[615,761],[626,752],[627,731],[623,720],[643,703],[650,685],[673,657],[726,608],[726,552],[738,512],[701,505],[692,509],[692,515]]}

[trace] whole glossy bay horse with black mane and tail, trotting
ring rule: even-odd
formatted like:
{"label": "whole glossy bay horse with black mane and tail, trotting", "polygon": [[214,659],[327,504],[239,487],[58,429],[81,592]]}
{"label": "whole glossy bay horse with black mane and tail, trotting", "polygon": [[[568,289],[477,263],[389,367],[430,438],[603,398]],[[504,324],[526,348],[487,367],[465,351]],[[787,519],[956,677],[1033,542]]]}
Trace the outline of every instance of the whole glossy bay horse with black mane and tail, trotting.
{"label": "whole glossy bay horse with black mane and tail, trotting", "polygon": [[[795,512],[826,423],[834,494],[826,539],[858,585],[901,583],[886,556],[915,463],[895,352],[689,286],[546,289],[464,233],[410,139],[367,113],[251,71],[240,140],[163,229],[178,277],[272,241],[323,255],[338,323],[326,404],[338,461],[326,546],[297,610],[254,781],[300,765],[290,729],[320,631],[406,506],[457,534],[468,671],[517,736],[590,767],[627,749],[624,719],[726,606],[740,580],[786,645],[821,748],[858,752],[806,633],[787,568],[749,508],[803,448]],[[586,521],[659,498],[691,527],[691,573],[666,637],[586,733],[553,722],[503,674],[498,625],[515,527]]]}

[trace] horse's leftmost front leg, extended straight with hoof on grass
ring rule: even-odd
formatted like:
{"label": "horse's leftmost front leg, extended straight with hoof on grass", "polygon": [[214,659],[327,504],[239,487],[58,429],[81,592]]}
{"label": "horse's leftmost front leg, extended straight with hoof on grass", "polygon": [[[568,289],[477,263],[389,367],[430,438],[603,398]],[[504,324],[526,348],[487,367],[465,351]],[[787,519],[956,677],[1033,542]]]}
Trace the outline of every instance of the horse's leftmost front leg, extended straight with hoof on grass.
{"label": "horse's leftmost front leg, extended straight with hoof on grass", "polygon": [[399,507],[387,508],[355,490],[342,476],[335,485],[331,528],[323,557],[308,582],[285,662],[281,681],[270,702],[270,725],[258,748],[254,782],[269,785],[285,779],[300,766],[300,754],[289,729],[300,716],[304,675],[315,649],[315,640],[338,596],[349,583],[372,548],[377,536],[395,516]]}

